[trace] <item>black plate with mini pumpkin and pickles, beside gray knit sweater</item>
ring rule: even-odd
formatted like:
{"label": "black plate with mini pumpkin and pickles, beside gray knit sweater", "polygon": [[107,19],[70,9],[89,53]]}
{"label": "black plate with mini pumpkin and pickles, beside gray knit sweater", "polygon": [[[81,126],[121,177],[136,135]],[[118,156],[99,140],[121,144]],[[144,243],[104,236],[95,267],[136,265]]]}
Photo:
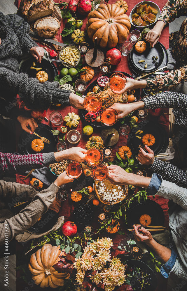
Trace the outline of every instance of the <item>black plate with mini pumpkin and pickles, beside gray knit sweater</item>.
{"label": "black plate with mini pumpkin and pickles, beside gray knit sweater", "polygon": [[25,61],[21,67],[21,73],[27,73],[30,77],[36,78],[36,73],[39,71],[32,70],[30,67],[33,67],[33,62],[36,64],[36,68],[42,68],[41,71],[45,71],[48,74],[48,81],[53,82],[56,76],[56,70],[54,65],[49,61],[42,59],[41,63],[38,63],[35,58],[30,58],[28,61]]}

